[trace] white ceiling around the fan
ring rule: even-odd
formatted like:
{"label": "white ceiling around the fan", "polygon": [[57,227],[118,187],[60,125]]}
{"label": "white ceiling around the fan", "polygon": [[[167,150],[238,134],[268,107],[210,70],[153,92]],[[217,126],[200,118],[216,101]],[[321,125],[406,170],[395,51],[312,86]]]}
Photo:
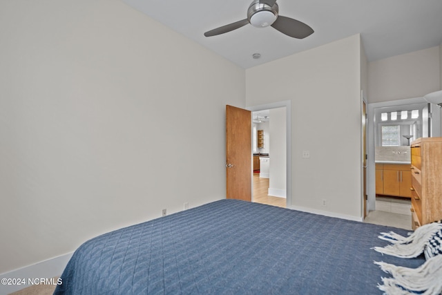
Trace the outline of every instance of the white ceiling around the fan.
{"label": "white ceiling around the fan", "polygon": [[[369,61],[442,43],[442,0],[278,0],[279,14],[315,30],[294,39],[250,24],[223,35],[204,32],[247,18],[251,0],[123,0],[242,68],[251,68],[361,33]],[[260,59],[253,59],[260,53]]]}

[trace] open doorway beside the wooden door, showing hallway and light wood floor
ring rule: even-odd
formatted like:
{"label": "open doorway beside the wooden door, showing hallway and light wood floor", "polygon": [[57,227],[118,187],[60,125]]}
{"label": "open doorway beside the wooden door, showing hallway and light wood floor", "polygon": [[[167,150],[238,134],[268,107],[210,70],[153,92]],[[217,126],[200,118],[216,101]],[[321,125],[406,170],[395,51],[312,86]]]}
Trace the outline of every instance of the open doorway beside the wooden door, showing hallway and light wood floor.
{"label": "open doorway beside the wooden door, showing hallway and light wood floor", "polygon": [[289,207],[289,102],[249,108],[252,111],[252,202]]}

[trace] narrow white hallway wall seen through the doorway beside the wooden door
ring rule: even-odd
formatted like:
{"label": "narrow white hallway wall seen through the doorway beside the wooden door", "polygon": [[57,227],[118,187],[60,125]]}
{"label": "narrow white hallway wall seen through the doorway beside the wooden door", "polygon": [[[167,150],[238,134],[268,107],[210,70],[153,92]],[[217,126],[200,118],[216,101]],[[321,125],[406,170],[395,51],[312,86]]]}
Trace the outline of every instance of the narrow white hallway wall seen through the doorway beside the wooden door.
{"label": "narrow white hallway wall seen through the doorway beside the wooden door", "polygon": [[272,108],[270,110],[269,195],[276,197],[286,197],[287,190],[287,126],[285,113],[285,108]]}

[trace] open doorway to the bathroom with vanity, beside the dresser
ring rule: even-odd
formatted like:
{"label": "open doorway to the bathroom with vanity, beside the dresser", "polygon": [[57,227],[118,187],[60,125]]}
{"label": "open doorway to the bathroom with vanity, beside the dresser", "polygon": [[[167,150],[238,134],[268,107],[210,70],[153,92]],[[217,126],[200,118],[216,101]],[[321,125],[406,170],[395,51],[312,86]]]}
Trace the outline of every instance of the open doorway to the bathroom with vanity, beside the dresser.
{"label": "open doorway to the bathroom with vanity, beside the dresser", "polygon": [[[392,191],[389,175],[399,175],[398,182],[406,183],[410,142],[419,137],[440,136],[439,126],[439,110],[422,97],[368,105],[366,222],[411,229],[410,196],[405,189]],[[399,169],[401,166],[406,169]]]}

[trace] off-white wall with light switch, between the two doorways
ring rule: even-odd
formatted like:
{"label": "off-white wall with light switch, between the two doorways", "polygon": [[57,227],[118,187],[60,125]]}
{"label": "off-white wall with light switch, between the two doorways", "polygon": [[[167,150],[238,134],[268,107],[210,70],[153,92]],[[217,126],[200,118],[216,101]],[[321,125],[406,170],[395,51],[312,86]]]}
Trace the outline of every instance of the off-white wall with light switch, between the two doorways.
{"label": "off-white wall with light switch, between the two doorways", "polygon": [[291,100],[291,207],[361,218],[360,46],[354,35],[246,70],[247,106]]}

